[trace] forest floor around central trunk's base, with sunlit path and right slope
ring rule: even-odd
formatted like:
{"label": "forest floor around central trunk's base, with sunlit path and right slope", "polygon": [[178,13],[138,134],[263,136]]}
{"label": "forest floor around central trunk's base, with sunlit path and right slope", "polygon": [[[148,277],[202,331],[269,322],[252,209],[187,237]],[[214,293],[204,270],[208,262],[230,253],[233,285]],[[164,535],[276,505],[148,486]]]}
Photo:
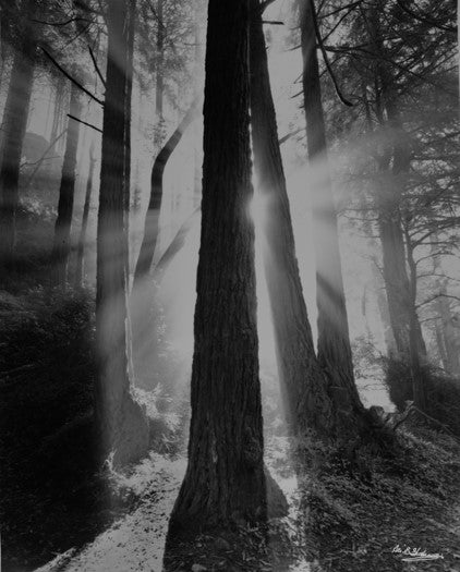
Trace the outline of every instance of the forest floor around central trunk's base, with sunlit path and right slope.
{"label": "forest floor around central trunk's base, with sunlit path and right slope", "polygon": [[[407,434],[405,438],[420,445],[420,437]],[[428,438],[433,435],[425,434],[425,446]],[[285,454],[286,443],[275,439],[267,462],[290,500],[291,511],[289,516],[271,523],[269,538],[275,539],[274,545],[257,552],[251,548],[242,550],[241,546],[239,549],[219,537],[203,537],[174,555],[174,565],[168,570],[460,571],[460,504],[458,496],[450,496],[458,495],[455,475],[459,475],[460,464],[458,460],[448,460],[448,451],[456,446],[441,436],[440,443],[439,462],[449,473],[441,482],[433,474],[432,466],[425,466],[425,474],[416,476],[419,487],[411,484],[409,475],[379,474],[376,480],[377,466],[373,470],[374,483],[344,473],[339,475],[332,468],[329,477],[322,478],[320,483],[312,479],[307,486],[308,519],[305,520],[299,509],[295,478]],[[433,446],[434,453],[436,449],[439,454],[439,448]],[[131,476],[119,476],[123,486],[140,496],[140,504],[92,543],[58,556],[37,572],[160,572],[168,519],[185,464],[182,455],[167,459],[153,453]],[[410,471],[408,466],[408,473]],[[433,477],[436,480],[431,483]],[[443,558],[404,562],[403,555],[396,551],[398,546],[401,550],[419,548]]]}

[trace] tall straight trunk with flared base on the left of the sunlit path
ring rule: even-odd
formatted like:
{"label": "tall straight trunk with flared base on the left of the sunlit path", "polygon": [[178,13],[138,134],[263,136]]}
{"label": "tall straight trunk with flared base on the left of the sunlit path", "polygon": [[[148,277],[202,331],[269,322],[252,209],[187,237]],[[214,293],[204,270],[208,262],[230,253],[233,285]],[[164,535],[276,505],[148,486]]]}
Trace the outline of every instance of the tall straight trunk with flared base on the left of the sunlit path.
{"label": "tall straight trunk with flared base on the left of the sunlit path", "polygon": [[126,332],[126,101],[129,94],[130,37],[134,0],[108,2],[108,59],[104,107],[102,154],[97,229],[96,423],[101,454],[114,451],[113,462],[140,459],[148,446],[144,411],[131,394]]}

